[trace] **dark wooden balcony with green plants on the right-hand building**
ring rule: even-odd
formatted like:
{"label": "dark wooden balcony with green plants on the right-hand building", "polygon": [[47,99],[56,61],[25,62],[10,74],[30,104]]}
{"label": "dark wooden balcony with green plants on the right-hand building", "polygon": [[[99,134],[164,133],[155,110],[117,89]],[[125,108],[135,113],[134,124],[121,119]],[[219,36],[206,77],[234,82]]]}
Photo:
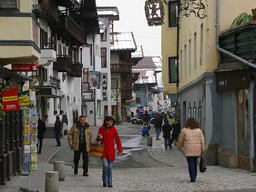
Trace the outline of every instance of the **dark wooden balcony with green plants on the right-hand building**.
{"label": "dark wooden balcony with green plants on the right-hand building", "polygon": [[[220,47],[244,60],[256,61],[256,21],[222,31]],[[236,61],[227,54],[221,53],[221,64]]]}

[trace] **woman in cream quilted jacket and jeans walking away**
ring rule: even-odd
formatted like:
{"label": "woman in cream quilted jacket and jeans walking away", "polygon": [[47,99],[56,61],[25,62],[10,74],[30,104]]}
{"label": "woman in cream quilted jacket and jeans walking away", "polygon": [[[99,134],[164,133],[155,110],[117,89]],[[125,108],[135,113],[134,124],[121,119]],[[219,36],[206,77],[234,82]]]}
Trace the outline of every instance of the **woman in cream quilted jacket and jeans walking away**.
{"label": "woman in cream quilted jacket and jeans walking away", "polygon": [[205,151],[204,136],[195,118],[189,117],[180,132],[177,148],[184,146],[184,156],[188,161],[190,182],[195,182],[197,175],[197,158]]}

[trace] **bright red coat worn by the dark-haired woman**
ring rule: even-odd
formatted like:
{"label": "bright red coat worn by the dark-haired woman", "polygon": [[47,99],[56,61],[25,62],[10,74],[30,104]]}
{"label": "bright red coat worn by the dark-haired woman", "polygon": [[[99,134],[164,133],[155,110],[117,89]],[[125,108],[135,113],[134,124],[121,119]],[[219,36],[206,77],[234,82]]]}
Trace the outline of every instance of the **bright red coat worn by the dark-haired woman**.
{"label": "bright red coat worn by the dark-haired woman", "polygon": [[122,144],[120,141],[120,138],[118,136],[118,132],[116,130],[116,127],[109,127],[107,129],[106,127],[102,126],[99,128],[98,134],[102,135],[101,144],[104,145],[104,151],[102,155],[102,159],[106,158],[109,161],[115,161],[115,143],[114,138],[116,142],[116,146],[118,148],[119,152],[123,152]]}

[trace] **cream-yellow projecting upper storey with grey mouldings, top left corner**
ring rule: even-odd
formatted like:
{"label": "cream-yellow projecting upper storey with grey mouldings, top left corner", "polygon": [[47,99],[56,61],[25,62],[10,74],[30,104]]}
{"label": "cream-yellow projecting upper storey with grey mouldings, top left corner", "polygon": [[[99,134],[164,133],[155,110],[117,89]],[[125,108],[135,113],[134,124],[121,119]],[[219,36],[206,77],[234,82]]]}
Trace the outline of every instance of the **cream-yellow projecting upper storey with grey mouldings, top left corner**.
{"label": "cream-yellow projecting upper storey with grey mouldings, top left corner", "polygon": [[40,28],[31,0],[1,1],[0,65],[39,63]]}

